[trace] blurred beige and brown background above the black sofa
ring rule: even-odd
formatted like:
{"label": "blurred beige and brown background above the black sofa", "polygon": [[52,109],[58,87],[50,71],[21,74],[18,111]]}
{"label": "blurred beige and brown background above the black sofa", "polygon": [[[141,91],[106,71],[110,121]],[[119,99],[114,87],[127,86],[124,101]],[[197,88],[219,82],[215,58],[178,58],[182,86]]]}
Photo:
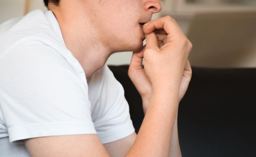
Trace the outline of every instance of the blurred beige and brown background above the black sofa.
{"label": "blurred beige and brown background above the black sofa", "polygon": [[[0,23],[33,9],[42,0],[0,0]],[[192,66],[256,67],[256,0],[163,0],[153,19],[170,15],[193,43]],[[108,65],[129,64],[132,52],[115,53]]]}

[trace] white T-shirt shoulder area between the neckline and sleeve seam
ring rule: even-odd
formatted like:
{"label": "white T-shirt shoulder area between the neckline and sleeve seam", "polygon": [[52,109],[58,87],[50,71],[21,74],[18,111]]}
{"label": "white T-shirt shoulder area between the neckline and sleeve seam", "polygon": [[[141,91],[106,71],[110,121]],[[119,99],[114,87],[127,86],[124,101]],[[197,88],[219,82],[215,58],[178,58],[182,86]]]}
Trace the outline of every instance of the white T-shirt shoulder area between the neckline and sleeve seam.
{"label": "white T-shirt shoulder area between the neckline and sleeve seam", "polygon": [[23,17],[16,17],[0,24],[0,55],[28,40],[41,40],[45,44],[61,45],[45,13],[37,9]]}

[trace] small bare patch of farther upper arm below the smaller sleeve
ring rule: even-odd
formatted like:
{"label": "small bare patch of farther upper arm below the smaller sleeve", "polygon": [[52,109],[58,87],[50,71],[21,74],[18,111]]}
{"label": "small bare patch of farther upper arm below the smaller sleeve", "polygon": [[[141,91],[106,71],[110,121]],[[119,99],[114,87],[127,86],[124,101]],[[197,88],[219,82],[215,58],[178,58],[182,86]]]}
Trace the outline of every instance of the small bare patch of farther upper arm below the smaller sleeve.
{"label": "small bare patch of farther upper arm below the smaller sleeve", "polygon": [[104,144],[104,147],[106,148],[111,157],[124,157],[132,147],[136,136],[137,135],[134,132],[133,134],[123,139],[106,143]]}

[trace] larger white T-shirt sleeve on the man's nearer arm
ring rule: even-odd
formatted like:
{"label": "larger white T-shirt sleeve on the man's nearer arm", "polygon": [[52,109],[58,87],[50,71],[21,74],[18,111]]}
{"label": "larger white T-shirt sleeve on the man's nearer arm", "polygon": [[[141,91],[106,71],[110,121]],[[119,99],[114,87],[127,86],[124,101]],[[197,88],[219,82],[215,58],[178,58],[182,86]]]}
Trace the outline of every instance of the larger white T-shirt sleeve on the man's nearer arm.
{"label": "larger white T-shirt sleeve on the man's nearer arm", "polygon": [[54,49],[20,44],[0,58],[0,107],[10,142],[96,134],[88,87]]}

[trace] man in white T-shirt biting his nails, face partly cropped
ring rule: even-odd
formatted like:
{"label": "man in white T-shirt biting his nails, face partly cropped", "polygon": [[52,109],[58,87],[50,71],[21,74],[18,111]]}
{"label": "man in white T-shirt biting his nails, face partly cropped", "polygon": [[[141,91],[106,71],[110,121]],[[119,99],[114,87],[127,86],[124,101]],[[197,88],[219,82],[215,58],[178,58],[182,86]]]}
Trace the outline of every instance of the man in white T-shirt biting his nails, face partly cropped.
{"label": "man in white T-shirt biting his nails, face partly cropped", "polygon": [[[0,156],[181,156],[177,110],[191,43],[171,17],[150,21],[159,0],[44,2],[48,12],[0,25]],[[121,51],[134,51],[128,75],[145,113],[138,135],[105,65]]]}

